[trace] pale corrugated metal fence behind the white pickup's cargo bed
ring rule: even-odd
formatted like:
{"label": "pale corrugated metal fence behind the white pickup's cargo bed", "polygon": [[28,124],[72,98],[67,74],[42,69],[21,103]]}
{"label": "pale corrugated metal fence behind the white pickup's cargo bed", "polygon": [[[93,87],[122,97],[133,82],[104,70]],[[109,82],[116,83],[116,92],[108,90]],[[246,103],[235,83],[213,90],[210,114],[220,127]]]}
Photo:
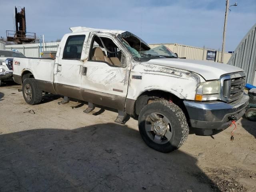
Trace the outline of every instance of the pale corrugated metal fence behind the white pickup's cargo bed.
{"label": "pale corrugated metal fence behind the white pickup's cargo bed", "polygon": [[[46,51],[57,51],[60,42],[49,42],[45,43]],[[43,46],[41,47],[43,51]],[[6,50],[18,50],[23,53],[26,57],[40,57],[40,43],[34,44],[22,44],[22,45],[6,45]]]}

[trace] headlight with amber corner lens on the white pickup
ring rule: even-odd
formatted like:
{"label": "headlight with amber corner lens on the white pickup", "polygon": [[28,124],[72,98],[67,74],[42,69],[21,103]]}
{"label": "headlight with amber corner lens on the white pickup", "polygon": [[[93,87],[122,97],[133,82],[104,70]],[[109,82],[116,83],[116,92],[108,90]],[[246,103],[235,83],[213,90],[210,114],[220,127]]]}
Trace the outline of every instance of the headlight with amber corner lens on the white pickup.
{"label": "headlight with amber corner lens on the white pickup", "polygon": [[195,100],[208,101],[220,99],[220,81],[206,81],[200,83],[196,89]]}

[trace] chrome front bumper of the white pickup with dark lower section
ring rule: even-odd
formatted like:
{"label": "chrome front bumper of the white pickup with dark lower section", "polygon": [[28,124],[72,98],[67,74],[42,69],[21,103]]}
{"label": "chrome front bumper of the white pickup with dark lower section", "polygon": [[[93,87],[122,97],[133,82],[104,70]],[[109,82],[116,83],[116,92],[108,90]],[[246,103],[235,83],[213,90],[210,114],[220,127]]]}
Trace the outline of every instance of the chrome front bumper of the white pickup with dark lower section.
{"label": "chrome front bumper of the white pickup with dark lower section", "polygon": [[209,136],[228,128],[232,122],[228,117],[236,116],[240,119],[248,105],[249,96],[244,95],[231,103],[220,101],[195,102],[184,101],[190,118],[190,126],[196,135]]}

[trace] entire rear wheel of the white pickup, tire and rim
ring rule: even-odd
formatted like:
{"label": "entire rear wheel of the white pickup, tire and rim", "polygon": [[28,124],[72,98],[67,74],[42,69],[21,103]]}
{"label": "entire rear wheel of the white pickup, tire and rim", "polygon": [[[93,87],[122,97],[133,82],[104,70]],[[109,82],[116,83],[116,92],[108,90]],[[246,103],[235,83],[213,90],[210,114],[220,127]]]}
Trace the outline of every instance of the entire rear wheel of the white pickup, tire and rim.
{"label": "entire rear wheel of the white pickup, tire and rim", "polygon": [[34,78],[27,78],[22,84],[23,97],[27,104],[35,105],[42,101],[43,92],[40,90]]}

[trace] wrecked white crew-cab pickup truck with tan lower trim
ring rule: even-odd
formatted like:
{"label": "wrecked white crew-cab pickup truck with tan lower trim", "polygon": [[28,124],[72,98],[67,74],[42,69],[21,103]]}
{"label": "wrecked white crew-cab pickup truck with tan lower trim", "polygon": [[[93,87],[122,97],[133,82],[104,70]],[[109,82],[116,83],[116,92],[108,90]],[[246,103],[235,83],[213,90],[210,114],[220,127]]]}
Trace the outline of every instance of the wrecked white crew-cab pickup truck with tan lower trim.
{"label": "wrecked white crew-cab pickup truck with tan lower trim", "polygon": [[150,48],[121,30],[70,28],[56,58],[14,58],[14,81],[23,84],[28,104],[42,92],[118,110],[115,122],[138,117],[148,146],[160,152],[179,148],[189,129],[210,136],[242,117],[248,104],[242,69],[186,60],[165,46]]}

